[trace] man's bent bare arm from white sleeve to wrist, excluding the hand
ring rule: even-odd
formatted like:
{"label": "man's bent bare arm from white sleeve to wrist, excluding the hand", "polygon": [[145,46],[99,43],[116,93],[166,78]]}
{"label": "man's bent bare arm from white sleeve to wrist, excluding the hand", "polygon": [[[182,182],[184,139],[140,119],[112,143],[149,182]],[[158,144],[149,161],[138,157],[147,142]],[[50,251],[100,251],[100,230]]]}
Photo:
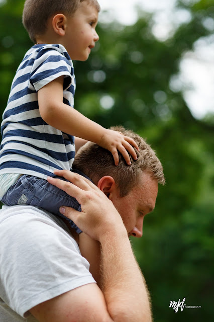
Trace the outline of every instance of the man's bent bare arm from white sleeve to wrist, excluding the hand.
{"label": "man's bent bare arm from white sleeve to wrist, excluding the hand", "polygon": [[87,284],[35,306],[31,313],[40,322],[151,321],[146,285],[129,240],[118,237],[102,239],[103,292]]}

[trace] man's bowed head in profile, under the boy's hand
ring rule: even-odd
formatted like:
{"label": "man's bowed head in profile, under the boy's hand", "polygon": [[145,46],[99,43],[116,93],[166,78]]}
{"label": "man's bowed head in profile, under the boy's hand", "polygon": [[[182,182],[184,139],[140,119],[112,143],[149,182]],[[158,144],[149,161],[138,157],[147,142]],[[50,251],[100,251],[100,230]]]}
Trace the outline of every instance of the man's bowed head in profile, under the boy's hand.
{"label": "man's bowed head in profile, under the boy's hand", "polygon": [[155,151],[138,134],[123,127],[111,128],[133,138],[140,148],[138,159],[128,166],[120,155],[115,166],[112,153],[94,144],[85,144],[77,153],[73,168],[87,175],[113,202],[129,235],[142,236],[143,219],[155,207],[158,183],[165,178]]}

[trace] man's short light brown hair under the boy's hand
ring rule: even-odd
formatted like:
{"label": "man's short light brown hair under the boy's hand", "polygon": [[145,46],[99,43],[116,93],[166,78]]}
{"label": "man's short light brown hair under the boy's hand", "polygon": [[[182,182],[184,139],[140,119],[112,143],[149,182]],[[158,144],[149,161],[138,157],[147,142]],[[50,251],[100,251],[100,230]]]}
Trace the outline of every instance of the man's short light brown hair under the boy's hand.
{"label": "man's short light brown hair under the boy's hand", "polygon": [[110,151],[88,142],[76,154],[73,168],[83,172],[94,184],[97,184],[103,176],[113,177],[121,197],[126,196],[138,184],[142,171],[150,173],[158,183],[164,185],[163,167],[151,146],[140,135],[122,126],[111,127],[111,129],[120,131],[135,140],[140,149],[140,152],[135,149],[138,159],[134,161],[131,158],[132,165],[128,166],[119,152],[119,166],[116,167]]}

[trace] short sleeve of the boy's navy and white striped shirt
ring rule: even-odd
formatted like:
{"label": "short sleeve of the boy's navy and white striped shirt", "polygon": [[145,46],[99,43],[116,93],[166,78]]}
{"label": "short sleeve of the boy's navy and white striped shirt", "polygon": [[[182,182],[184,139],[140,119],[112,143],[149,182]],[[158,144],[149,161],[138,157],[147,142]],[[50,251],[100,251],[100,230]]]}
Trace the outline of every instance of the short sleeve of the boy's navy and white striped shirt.
{"label": "short sleeve of the boy's navy and white striped shirt", "polygon": [[46,45],[38,52],[30,75],[30,84],[36,91],[60,76],[64,76],[63,90],[71,84],[75,86],[72,61],[67,55],[61,48],[52,45]]}

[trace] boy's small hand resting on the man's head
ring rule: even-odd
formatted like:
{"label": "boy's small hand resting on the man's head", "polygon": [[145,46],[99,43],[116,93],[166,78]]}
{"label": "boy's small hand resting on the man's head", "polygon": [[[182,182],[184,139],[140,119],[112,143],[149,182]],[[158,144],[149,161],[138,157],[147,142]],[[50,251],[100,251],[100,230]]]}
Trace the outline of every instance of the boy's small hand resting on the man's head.
{"label": "boy's small hand resting on the man's head", "polygon": [[104,134],[101,136],[100,142],[97,144],[112,153],[116,166],[119,165],[118,151],[121,152],[127,165],[129,166],[132,164],[129,153],[132,155],[134,160],[137,160],[138,158],[133,148],[135,147],[139,151],[137,143],[132,138],[125,136],[121,132],[105,129]]}

